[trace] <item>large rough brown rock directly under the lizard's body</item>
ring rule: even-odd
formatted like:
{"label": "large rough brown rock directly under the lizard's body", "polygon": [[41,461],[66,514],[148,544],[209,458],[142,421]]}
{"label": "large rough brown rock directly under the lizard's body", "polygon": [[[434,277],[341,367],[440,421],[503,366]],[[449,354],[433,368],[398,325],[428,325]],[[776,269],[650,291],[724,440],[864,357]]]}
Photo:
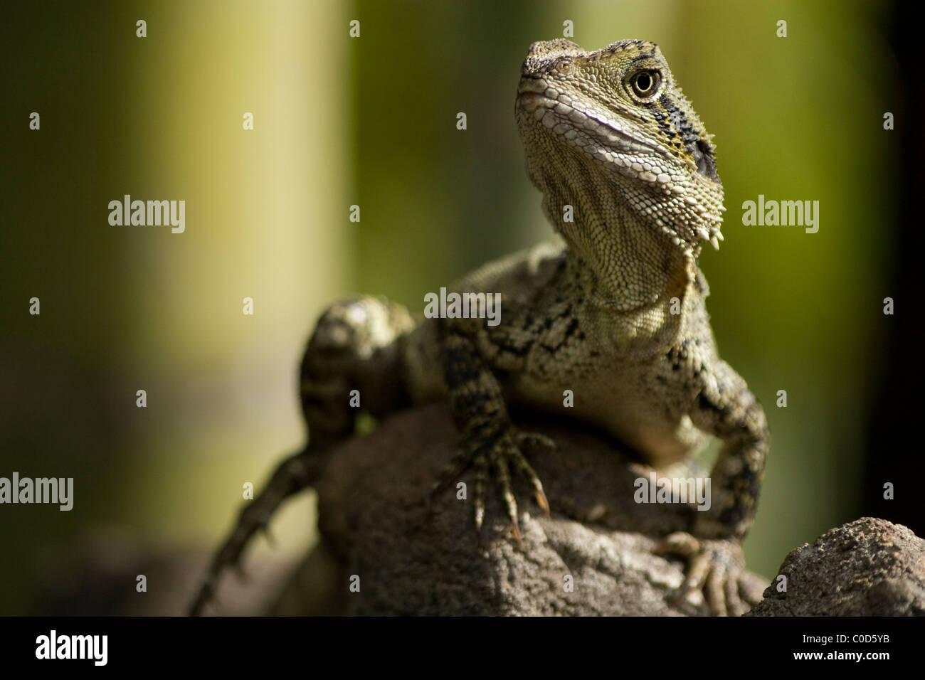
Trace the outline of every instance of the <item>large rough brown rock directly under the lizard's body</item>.
{"label": "large rough brown rock directly under the lizard's body", "polygon": [[[678,504],[635,503],[634,481],[650,469],[599,433],[551,421],[514,420],[560,446],[558,452],[527,453],[543,480],[551,517],[539,510],[523,480],[515,480],[524,550],[516,548],[495,488],[489,487],[483,550],[471,501],[457,500],[455,489],[441,494],[427,515],[428,490],[450,460],[457,435],[443,406],[426,406],[398,414],[373,434],[332,451],[317,487],[324,547],[293,576],[271,611],[705,613],[698,594],[686,604],[672,603],[685,563],[653,554],[658,539],[684,530],[695,511]],[[702,471],[678,468],[665,474],[697,476]],[[462,476],[470,499],[472,479],[471,473]],[[332,569],[332,564],[339,566]],[[359,592],[349,590],[352,575],[359,576]],[[570,583],[571,590],[566,587]],[[759,598],[766,585],[758,575],[746,575],[740,590]],[[325,597],[327,587],[341,596]]]}

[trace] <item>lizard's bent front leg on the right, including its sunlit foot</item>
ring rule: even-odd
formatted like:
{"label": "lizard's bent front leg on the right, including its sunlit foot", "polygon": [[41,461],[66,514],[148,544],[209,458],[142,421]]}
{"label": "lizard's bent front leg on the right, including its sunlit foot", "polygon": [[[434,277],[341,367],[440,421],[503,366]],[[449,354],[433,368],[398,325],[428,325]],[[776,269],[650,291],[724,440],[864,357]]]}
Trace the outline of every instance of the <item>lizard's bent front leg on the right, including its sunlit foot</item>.
{"label": "lizard's bent front leg on the right, including its sunlit foot", "polygon": [[722,451],[710,472],[709,510],[695,511],[690,533],[672,534],[660,550],[688,559],[679,596],[702,589],[710,612],[740,615],[757,603],[740,597],[741,541],[758,504],[770,434],[759,402],[730,365],[700,365],[697,376],[701,389],[690,416],[695,426],[722,439]]}

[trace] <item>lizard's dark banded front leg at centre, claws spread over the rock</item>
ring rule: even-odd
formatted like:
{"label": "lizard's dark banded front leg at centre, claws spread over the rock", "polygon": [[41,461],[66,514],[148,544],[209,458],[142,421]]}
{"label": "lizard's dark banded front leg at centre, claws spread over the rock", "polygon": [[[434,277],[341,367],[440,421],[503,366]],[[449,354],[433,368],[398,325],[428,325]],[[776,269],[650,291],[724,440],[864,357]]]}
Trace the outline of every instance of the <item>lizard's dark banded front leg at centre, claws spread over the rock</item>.
{"label": "lizard's dark banded front leg at centre, claws spread over the rock", "polygon": [[543,485],[524,458],[522,449],[528,445],[554,447],[555,444],[543,435],[521,432],[513,427],[498,378],[478,355],[473,340],[448,329],[443,347],[450,409],[461,443],[457,454],[440,474],[433,494],[450,486],[469,467],[475,467],[475,529],[480,532],[485,519],[485,487],[493,473],[501,487],[513,536],[521,545],[511,470],[527,478],[534,488],[536,502],[549,514]]}

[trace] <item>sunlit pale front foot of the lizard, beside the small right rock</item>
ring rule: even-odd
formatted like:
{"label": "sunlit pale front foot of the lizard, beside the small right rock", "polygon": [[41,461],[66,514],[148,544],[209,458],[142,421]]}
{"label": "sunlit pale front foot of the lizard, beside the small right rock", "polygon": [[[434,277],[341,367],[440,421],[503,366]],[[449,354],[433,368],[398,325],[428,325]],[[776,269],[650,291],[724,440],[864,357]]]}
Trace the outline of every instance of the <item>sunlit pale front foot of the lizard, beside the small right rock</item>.
{"label": "sunlit pale front foot of the lizard, beside the small right rock", "polygon": [[734,538],[696,538],[678,531],[664,538],[656,552],[681,555],[687,560],[685,582],[674,600],[682,603],[695,590],[703,592],[714,616],[741,616],[756,602],[743,602],[739,578],[745,572],[742,546]]}

